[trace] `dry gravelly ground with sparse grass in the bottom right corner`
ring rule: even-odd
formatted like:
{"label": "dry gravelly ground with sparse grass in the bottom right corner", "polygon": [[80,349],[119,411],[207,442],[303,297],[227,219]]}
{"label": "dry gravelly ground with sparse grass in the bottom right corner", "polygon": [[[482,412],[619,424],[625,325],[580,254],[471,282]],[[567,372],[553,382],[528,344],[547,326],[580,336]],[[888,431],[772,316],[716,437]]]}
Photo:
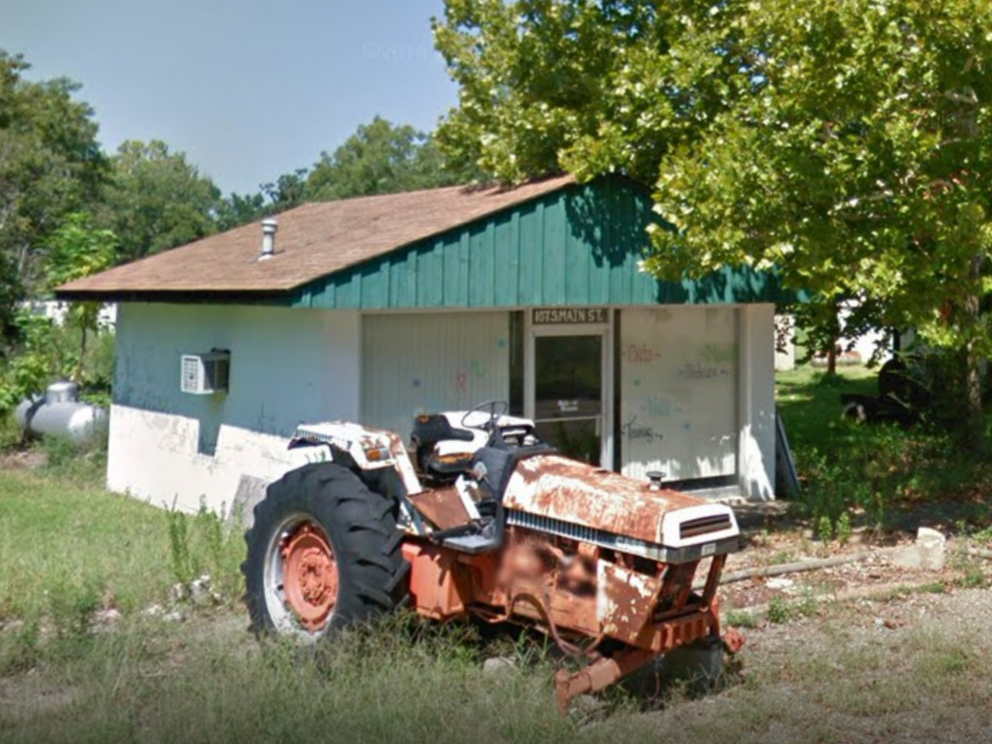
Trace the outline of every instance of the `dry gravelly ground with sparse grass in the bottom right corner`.
{"label": "dry gravelly ground with sparse grass in the bottom right corner", "polygon": [[980,589],[823,607],[747,631],[722,693],[647,716],[687,742],[988,740],[990,623]]}

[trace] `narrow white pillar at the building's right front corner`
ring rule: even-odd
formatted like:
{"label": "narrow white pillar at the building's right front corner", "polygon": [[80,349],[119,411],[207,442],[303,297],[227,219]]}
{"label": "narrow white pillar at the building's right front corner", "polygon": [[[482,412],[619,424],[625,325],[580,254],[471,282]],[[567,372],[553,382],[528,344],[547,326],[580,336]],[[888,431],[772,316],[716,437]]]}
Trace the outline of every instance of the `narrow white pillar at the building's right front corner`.
{"label": "narrow white pillar at the building's right front corner", "polygon": [[737,472],[743,495],[775,496],[774,305],[740,309],[740,442]]}

